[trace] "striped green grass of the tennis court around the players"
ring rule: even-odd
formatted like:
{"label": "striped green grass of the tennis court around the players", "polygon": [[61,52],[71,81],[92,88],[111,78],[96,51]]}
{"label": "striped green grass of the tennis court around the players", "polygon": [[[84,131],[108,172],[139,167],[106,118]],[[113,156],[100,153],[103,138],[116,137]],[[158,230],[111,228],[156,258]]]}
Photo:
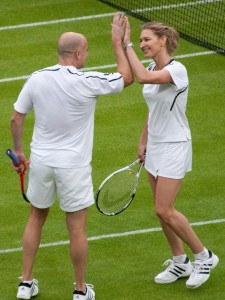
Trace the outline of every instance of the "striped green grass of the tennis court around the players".
{"label": "striped green grass of the tennis court around the players", "polygon": [[[114,10],[95,0],[1,0],[0,6],[0,287],[1,300],[16,298],[21,275],[21,238],[29,205],[20,195],[19,177],[5,155],[12,147],[10,117],[25,77],[57,62],[56,41],[65,31],[86,35],[89,58],[85,69],[115,71],[111,47]],[[99,15],[102,15],[99,17]],[[91,16],[91,17],[90,17]],[[56,21],[63,20],[64,21]],[[70,20],[68,20],[70,19]],[[130,18],[132,41],[139,46],[140,20]],[[38,24],[45,22],[43,24]],[[35,23],[32,26],[21,24]],[[10,26],[14,26],[13,28]],[[144,59],[138,50],[139,57]],[[176,57],[189,73],[187,115],[193,138],[193,171],[184,180],[177,208],[195,226],[205,245],[220,258],[202,287],[188,290],[185,280],[156,285],[154,276],[170,258],[153,211],[152,195],[143,171],[134,202],[121,215],[106,217],[89,210],[87,282],[97,300],[223,299],[225,294],[225,57],[181,40]],[[147,65],[147,63],[145,63]],[[107,67],[108,66],[108,67]],[[17,77],[25,76],[18,80]],[[134,83],[122,94],[101,97],[96,107],[93,182],[97,190],[112,171],[136,158],[147,106],[142,87]],[[26,118],[24,152],[29,156],[33,115]],[[189,249],[187,253],[193,259]],[[52,207],[42,236],[34,276],[40,300],[72,298],[73,270],[64,213]]]}

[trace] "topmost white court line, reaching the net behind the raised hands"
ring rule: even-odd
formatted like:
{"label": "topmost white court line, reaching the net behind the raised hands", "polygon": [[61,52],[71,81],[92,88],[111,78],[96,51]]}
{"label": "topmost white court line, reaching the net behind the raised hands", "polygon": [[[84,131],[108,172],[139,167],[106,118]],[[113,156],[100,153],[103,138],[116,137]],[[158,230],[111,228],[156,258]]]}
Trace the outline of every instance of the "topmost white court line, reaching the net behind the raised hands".
{"label": "topmost white court line, reaching the net behind the raised hands", "polygon": [[[163,10],[163,9],[187,7],[187,6],[194,6],[194,5],[221,2],[221,1],[223,1],[223,0],[200,0],[200,1],[195,1],[195,2],[192,1],[192,2],[187,2],[187,3],[178,3],[178,4],[162,5],[162,6],[155,6],[155,7],[145,7],[142,9],[132,10],[132,12],[146,12],[146,11],[154,11],[154,10]],[[83,17],[74,17],[74,18],[68,18],[68,19],[59,19],[59,20],[51,20],[51,21],[44,21],[44,22],[35,22],[35,23],[28,23],[28,24],[4,26],[4,27],[0,27],[0,31],[25,28],[25,27],[35,27],[35,26],[43,26],[43,25],[50,25],[50,24],[58,24],[58,23],[67,23],[67,22],[74,22],[74,21],[83,21],[83,20],[88,20],[88,19],[90,20],[90,19],[97,19],[97,18],[105,18],[105,17],[114,16],[114,14],[115,14],[115,12],[99,14],[99,15],[83,16]]]}

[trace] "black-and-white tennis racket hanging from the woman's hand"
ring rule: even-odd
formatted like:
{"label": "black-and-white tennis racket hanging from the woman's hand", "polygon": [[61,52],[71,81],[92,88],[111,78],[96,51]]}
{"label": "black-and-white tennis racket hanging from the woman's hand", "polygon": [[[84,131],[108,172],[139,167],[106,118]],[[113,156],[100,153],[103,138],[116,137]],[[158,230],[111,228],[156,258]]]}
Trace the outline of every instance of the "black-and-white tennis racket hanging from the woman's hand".
{"label": "black-and-white tennis racket hanging from the woman's hand", "polygon": [[[132,169],[139,164],[138,170]],[[110,174],[99,186],[96,194],[97,209],[106,216],[124,211],[134,199],[143,163],[140,159]]]}

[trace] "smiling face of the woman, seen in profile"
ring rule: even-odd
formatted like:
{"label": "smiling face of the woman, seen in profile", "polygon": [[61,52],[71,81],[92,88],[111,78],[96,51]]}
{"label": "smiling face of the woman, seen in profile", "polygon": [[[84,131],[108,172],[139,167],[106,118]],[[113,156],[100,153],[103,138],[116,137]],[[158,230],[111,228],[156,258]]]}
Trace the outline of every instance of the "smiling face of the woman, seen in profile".
{"label": "smiling face of the woman, seen in profile", "polygon": [[151,29],[143,29],[140,36],[140,48],[146,58],[154,58],[164,45],[163,39]]}

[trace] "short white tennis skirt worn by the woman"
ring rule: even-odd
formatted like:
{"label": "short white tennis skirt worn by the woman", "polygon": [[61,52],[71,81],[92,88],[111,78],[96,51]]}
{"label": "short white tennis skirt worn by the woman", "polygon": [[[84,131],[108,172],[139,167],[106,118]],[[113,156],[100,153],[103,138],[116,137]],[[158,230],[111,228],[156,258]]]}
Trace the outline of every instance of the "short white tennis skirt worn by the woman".
{"label": "short white tennis skirt worn by the woman", "polygon": [[192,170],[192,142],[148,142],[145,169],[157,176],[182,179]]}

